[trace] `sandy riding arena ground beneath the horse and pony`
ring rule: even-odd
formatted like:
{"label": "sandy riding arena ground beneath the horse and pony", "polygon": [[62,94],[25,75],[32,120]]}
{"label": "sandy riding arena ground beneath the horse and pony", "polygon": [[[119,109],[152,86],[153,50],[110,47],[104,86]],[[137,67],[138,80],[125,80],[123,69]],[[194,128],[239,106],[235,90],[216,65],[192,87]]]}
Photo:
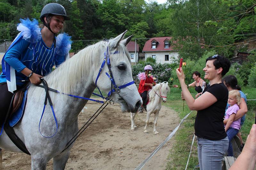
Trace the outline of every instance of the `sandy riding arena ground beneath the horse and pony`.
{"label": "sandy riding arena ground beneath the horse and pony", "polygon": [[[79,114],[79,127],[100,104],[88,102],[86,107],[88,109]],[[149,133],[145,134],[146,112],[137,115],[135,124],[138,129],[131,131],[130,113],[122,113],[118,104],[108,105],[76,140],[65,169],[135,169],[179,124],[178,115],[162,106],[156,127],[159,134],[153,135],[153,115],[149,120]],[[165,169],[172,143],[172,139],[169,140],[142,169]],[[30,165],[29,155],[3,151],[3,169],[30,169]],[[52,167],[50,160],[46,169]]]}

